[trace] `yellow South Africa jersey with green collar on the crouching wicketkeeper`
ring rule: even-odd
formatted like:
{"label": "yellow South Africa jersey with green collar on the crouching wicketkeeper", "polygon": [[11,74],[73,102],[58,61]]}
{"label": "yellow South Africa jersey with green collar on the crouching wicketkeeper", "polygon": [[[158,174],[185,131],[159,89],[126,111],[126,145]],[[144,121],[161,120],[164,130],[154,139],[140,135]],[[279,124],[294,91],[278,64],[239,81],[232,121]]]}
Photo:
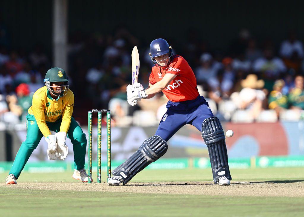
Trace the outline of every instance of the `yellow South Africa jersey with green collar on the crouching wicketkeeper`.
{"label": "yellow South Africa jersey with green collar on the crouching wicketkeeper", "polygon": [[62,118],[60,132],[68,131],[74,106],[74,94],[68,89],[63,97],[53,99],[47,87],[39,88],[33,95],[33,105],[29,108],[30,115],[34,115],[43,136],[49,136],[50,129],[46,122],[56,122]]}

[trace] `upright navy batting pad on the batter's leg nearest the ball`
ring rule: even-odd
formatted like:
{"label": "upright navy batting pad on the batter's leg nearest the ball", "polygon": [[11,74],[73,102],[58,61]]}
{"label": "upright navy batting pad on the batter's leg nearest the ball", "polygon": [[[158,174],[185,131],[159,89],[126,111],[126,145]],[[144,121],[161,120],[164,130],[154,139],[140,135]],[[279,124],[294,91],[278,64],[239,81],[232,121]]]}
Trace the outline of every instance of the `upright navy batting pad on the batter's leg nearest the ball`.
{"label": "upright navy batting pad on the batter's leg nearest the ball", "polygon": [[202,124],[202,137],[208,147],[214,183],[217,183],[221,176],[225,176],[231,180],[225,134],[217,117],[204,120]]}

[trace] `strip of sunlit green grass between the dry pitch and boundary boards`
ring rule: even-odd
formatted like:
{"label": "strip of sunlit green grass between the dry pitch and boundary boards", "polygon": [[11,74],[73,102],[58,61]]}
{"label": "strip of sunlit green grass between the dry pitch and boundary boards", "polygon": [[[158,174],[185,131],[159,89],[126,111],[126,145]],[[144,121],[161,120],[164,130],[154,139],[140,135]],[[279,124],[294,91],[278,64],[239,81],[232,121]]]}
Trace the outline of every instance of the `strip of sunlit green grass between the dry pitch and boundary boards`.
{"label": "strip of sunlit green grass between the dry pitch and boundary boards", "polygon": [[[290,168],[255,168],[230,169],[232,181],[271,181],[271,180],[303,180],[303,167]],[[19,182],[78,182],[71,178],[73,172],[64,173],[21,173]],[[93,172],[93,179],[96,172]],[[8,176],[0,173],[0,181]],[[95,176],[96,177],[96,176]],[[106,181],[105,171],[102,171],[102,181]],[[94,179],[96,181],[96,178]],[[181,169],[181,170],[143,170],[132,182],[157,181],[212,181],[211,169]]]}

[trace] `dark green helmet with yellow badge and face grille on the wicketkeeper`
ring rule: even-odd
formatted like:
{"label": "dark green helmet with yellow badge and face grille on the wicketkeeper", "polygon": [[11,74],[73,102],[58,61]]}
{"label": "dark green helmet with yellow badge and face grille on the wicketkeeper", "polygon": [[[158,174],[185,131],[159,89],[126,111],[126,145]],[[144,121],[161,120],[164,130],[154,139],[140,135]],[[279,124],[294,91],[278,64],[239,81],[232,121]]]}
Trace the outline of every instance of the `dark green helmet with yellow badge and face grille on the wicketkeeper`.
{"label": "dark green helmet with yellow badge and face grille on the wicketkeeper", "polygon": [[[67,94],[69,78],[67,78],[67,74],[64,69],[59,67],[49,69],[47,74],[45,74],[45,79],[43,79],[43,81],[47,86],[47,89],[55,96],[62,97]],[[64,82],[64,85],[60,86],[61,91],[59,93],[58,91],[54,91],[53,85],[51,85],[53,82]]]}

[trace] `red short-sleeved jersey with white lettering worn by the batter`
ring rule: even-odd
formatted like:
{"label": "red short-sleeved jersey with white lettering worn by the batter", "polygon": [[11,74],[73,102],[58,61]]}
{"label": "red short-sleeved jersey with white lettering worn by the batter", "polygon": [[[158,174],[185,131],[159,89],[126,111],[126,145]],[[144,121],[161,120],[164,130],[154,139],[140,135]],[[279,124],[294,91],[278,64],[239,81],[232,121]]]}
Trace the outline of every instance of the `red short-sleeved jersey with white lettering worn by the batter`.
{"label": "red short-sleeved jersey with white lettering worn by the batter", "polygon": [[172,102],[183,102],[197,98],[199,91],[197,90],[196,78],[191,67],[183,57],[175,55],[173,58],[173,61],[166,69],[152,67],[149,83],[155,84],[163,79],[166,73],[176,74],[177,76],[173,81],[163,90],[166,97]]}

